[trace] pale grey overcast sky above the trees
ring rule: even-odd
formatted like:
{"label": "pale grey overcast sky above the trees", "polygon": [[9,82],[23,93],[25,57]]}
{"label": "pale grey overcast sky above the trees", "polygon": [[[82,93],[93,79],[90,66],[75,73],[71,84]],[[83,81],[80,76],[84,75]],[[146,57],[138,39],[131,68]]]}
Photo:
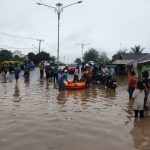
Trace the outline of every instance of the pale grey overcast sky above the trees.
{"label": "pale grey overcast sky above the trees", "polygon": [[[78,1],[78,0],[77,0]],[[63,6],[76,0],[43,0]],[[41,49],[57,55],[57,14],[39,6],[40,0],[0,0],[0,33],[43,39]],[[120,48],[135,45],[150,52],[150,0],[83,0],[65,8],[60,17],[60,59],[66,62],[82,56],[89,48],[105,51],[109,58]],[[78,44],[77,44],[78,43]],[[38,52],[38,41],[0,34],[0,48]],[[37,48],[36,48],[37,47]],[[69,59],[68,59],[69,58]]]}

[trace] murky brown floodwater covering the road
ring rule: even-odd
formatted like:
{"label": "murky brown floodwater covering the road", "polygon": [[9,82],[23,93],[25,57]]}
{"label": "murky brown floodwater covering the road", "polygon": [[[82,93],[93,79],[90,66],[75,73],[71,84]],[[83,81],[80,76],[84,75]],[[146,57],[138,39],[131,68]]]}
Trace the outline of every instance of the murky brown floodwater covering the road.
{"label": "murky brown floodwater covering the road", "polygon": [[22,74],[0,83],[0,150],[150,150],[150,117],[134,120],[126,77],[116,92],[59,92],[38,70],[27,82]]}

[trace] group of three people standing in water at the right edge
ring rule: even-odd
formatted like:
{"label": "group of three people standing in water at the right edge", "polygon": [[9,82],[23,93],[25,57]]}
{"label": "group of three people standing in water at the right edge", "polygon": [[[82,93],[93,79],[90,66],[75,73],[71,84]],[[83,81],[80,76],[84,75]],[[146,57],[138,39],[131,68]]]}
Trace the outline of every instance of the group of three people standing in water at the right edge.
{"label": "group of three people standing in water at the right edge", "polygon": [[142,73],[142,80],[137,80],[136,73],[131,71],[131,75],[128,78],[128,93],[129,100],[134,100],[135,117],[143,118],[144,111],[150,108],[150,79],[148,71]]}

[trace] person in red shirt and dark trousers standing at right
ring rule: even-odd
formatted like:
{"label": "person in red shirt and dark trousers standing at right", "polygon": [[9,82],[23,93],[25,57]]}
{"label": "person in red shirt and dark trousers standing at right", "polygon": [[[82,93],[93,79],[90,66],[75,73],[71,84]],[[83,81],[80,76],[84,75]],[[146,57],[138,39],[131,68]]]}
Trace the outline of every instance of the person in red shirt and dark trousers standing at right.
{"label": "person in red shirt and dark trousers standing at right", "polygon": [[132,99],[133,92],[136,87],[136,74],[134,71],[131,71],[131,76],[128,78],[128,93],[129,93],[129,100]]}

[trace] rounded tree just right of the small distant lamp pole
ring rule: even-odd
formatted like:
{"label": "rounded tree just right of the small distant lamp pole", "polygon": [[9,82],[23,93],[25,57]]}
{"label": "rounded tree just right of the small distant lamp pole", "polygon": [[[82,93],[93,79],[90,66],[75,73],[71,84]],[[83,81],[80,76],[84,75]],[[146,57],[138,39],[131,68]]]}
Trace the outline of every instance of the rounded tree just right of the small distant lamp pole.
{"label": "rounded tree just right of the small distant lamp pole", "polygon": [[83,60],[85,63],[88,63],[89,61],[98,62],[99,58],[99,52],[96,51],[94,48],[89,49],[84,53]]}

